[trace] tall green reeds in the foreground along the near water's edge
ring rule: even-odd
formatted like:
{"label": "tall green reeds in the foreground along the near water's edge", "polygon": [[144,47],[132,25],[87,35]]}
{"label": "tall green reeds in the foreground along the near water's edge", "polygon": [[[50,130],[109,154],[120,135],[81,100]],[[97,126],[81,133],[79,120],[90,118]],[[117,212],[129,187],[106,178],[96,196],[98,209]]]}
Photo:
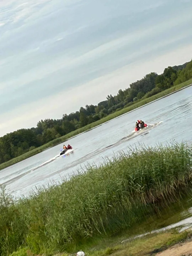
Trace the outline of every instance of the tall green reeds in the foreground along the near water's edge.
{"label": "tall green reeds in the foreground along the near water's edge", "polygon": [[192,148],[142,148],[18,203],[0,196],[0,254],[70,252],[117,235],[191,191]]}

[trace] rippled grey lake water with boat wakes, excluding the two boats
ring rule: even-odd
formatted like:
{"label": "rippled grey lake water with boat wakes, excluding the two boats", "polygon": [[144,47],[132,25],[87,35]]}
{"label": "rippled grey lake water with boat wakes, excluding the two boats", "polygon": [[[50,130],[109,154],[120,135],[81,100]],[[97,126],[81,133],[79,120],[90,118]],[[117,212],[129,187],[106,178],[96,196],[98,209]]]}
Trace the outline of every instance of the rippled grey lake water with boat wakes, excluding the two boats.
{"label": "rippled grey lake water with boat wakes, excluding the two boats", "polygon": [[[0,183],[14,196],[27,196],[36,187],[62,182],[87,164],[100,164],[119,151],[138,147],[140,143],[155,146],[170,140],[192,143],[192,86],[147,106],[127,113],[89,132],[65,142],[74,152],[54,159],[63,144],[49,148],[31,158],[0,171]],[[137,119],[149,126],[134,131]]]}

